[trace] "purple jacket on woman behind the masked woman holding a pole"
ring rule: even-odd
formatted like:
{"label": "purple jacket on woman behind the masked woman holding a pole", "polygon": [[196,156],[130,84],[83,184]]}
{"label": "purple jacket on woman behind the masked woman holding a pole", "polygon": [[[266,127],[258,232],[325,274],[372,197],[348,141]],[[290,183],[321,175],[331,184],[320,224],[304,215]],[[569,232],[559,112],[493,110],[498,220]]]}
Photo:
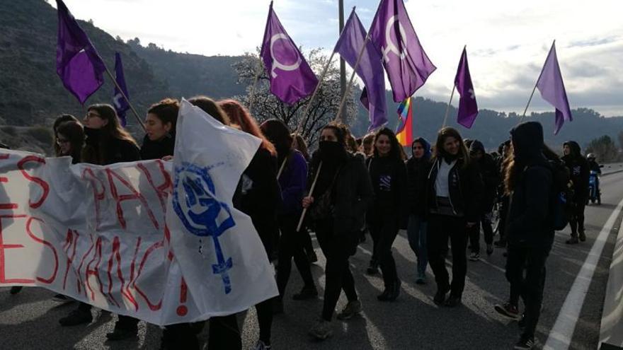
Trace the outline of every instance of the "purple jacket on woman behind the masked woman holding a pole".
{"label": "purple jacket on woman behind the masked woman holding a pole", "polygon": [[[279,164],[278,166],[281,166]],[[299,214],[302,199],[307,189],[307,162],[302,153],[293,150],[288,156],[285,168],[279,177],[281,187],[280,215]]]}

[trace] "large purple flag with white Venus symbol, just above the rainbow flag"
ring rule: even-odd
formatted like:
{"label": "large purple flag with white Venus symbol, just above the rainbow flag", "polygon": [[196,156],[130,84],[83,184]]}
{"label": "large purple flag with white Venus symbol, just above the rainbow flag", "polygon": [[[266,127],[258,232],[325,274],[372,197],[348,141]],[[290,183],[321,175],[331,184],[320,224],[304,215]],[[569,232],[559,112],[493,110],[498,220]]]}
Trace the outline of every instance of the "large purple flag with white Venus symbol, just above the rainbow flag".
{"label": "large purple flag with white Venus symbol, just above the rainbow flag", "polygon": [[420,45],[402,0],[381,1],[370,38],[383,54],[395,102],[411,97],[437,69]]}

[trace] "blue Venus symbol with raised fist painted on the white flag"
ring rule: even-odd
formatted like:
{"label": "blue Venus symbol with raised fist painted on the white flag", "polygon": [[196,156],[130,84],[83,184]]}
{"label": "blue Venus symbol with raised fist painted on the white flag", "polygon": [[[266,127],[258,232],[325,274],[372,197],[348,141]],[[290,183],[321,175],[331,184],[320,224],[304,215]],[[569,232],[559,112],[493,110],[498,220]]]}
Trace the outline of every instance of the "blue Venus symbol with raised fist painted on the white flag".
{"label": "blue Venus symbol with raised fist painted on the white flag", "polygon": [[225,259],[219,237],[236,226],[229,206],[219,202],[216,189],[208,170],[191,163],[182,163],[175,170],[173,184],[173,209],[188,232],[200,237],[209,236],[214,243],[217,264],[212,272],[223,279],[225,293],[232,291],[227,271],[232,269],[232,258]]}

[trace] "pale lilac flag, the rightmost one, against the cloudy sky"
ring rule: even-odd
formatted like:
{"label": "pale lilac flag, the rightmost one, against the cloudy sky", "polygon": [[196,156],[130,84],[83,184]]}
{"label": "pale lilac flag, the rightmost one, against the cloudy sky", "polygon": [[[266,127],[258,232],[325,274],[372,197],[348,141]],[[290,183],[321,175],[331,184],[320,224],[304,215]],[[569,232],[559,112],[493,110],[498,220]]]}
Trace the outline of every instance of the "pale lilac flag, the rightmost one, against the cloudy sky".
{"label": "pale lilac flag, the rightmost one, against the cloudy sky", "polygon": [[551,44],[547,60],[537,81],[537,88],[544,100],[556,108],[556,122],[554,122],[554,135],[558,134],[565,120],[573,121],[571,109],[567,100],[567,93],[562,81],[558,57],[556,57],[556,42]]}

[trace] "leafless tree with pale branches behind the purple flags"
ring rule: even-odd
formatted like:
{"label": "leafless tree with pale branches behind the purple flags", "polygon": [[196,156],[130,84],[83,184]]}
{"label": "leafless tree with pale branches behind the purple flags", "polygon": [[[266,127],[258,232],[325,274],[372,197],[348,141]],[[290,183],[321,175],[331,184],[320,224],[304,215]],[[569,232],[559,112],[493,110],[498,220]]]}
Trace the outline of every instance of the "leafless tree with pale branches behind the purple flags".
{"label": "leafless tree with pale branches behind the purple flags", "polygon": [[[259,49],[256,54],[246,52],[246,54],[244,54],[244,59],[234,64],[234,69],[236,70],[236,74],[238,74],[238,82],[248,85],[246,95],[236,96],[236,100],[248,105],[253,80],[258,70],[261,69],[261,74],[259,75],[259,80],[253,93],[253,117],[256,117],[258,122],[273,118],[280,119],[290,127],[292,132],[295,132],[300,123],[301,128],[299,129],[299,134],[303,136],[307,144],[313,146],[316,144],[319,137],[320,129],[336,118],[341,103],[339,67],[331,64],[324,80],[321,81],[321,87],[316,94],[316,98],[314,98],[314,101],[309,107],[308,114],[304,115],[311,95],[299,100],[299,102],[293,105],[282,103],[275,95],[270,93],[268,76],[264,69],[263,62],[259,58],[258,52]],[[316,76],[320,78],[321,71],[328,62],[328,57],[322,54],[321,49],[313,49],[306,59],[311,69],[316,73]],[[346,111],[346,119],[342,120],[342,122],[349,124],[356,113],[352,88],[350,89],[348,98],[346,98],[344,108]]]}

